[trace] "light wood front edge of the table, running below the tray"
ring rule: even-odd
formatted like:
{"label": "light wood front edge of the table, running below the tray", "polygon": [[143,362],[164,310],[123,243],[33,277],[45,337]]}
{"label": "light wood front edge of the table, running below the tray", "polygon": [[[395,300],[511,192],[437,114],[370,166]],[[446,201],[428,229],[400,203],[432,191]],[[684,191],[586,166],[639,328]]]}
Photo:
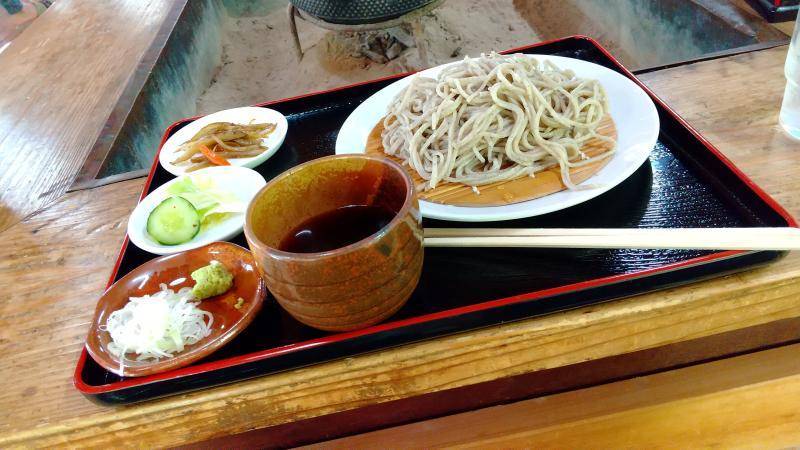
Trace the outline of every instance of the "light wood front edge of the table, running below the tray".
{"label": "light wood front edge of the table, running below the tray", "polygon": [[[793,318],[800,316],[798,263],[791,255],[769,268],[602,307],[109,408],[6,433],[0,446],[109,445],[126,436],[136,445],[179,445]],[[198,420],[214,426],[204,431]]]}

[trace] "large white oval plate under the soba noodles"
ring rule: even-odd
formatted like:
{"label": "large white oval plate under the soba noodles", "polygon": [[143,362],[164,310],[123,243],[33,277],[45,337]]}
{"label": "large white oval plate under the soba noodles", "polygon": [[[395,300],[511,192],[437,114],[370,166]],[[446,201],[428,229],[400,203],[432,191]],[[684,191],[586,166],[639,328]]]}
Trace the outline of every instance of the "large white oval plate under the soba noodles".
{"label": "large white oval plate under the soba noodles", "polygon": [[[658,113],[653,101],[639,86],[611,69],[579,59],[550,55],[529,55],[539,60],[549,59],[562,69],[572,69],[576,75],[593,78],[606,90],[611,117],[617,127],[617,153],[611,161],[584,184],[598,187],[580,191],[564,190],[545,197],[503,206],[451,206],[420,200],[422,215],[433,219],[463,222],[488,222],[519,219],[558,211],[590,200],[618,185],[647,161],[658,138]],[[435,78],[443,67],[420,72]],[[411,81],[411,76],[397,80],[364,100],[345,120],[336,138],[336,153],[364,153],[367,137],[375,124],[386,114],[395,95]]]}

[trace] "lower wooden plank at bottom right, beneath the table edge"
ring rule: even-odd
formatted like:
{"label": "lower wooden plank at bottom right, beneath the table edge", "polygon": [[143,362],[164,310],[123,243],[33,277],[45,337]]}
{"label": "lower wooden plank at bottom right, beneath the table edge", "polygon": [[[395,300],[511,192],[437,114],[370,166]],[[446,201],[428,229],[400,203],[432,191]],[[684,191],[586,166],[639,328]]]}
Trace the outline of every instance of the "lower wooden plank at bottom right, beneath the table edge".
{"label": "lower wooden plank at bottom right, beneath the table edge", "polygon": [[791,345],[305,448],[789,448],[800,442],[798,352]]}

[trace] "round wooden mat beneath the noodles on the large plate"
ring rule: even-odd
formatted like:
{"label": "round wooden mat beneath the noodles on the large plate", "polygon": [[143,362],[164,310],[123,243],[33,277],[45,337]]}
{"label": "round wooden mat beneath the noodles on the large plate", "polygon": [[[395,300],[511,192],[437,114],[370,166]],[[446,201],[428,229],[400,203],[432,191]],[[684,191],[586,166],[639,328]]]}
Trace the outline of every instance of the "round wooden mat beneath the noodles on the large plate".
{"label": "round wooden mat beneath the noodles on the large plate", "polygon": [[[383,133],[383,120],[379,120],[367,137],[366,153],[387,156],[383,152],[381,133]],[[611,116],[606,116],[597,127],[597,133],[601,136],[617,138],[617,130]],[[614,143],[601,139],[591,139],[581,147],[587,156],[594,157],[602,155],[613,148]],[[585,166],[570,169],[570,178],[573,183],[578,184],[586,181],[600,169],[605,167],[614,155],[603,158],[599,161],[586,164]],[[389,156],[397,163],[403,164],[403,160],[394,156]],[[455,206],[499,206],[512,203],[524,202],[535,198],[544,197],[552,193],[563,191],[567,188],[561,179],[561,169],[553,167],[541,172],[537,172],[535,177],[522,177],[515,180],[498,181],[496,183],[479,186],[473,189],[462,183],[440,182],[434,189],[424,190],[426,181],[419,176],[416,170],[404,165],[409,175],[414,179],[417,186],[417,194],[420,199],[433,203],[442,203]]]}

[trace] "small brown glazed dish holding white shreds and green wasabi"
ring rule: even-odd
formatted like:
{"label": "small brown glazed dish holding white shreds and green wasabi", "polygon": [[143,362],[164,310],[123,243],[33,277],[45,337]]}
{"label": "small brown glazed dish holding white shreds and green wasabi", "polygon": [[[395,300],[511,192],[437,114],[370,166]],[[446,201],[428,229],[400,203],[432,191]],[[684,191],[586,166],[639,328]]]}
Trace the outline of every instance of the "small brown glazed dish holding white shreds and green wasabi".
{"label": "small brown glazed dish holding white shreds and green wasabi", "polygon": [[[233,275],[233,286],[228,292],[203,300],[199,308],[213,316],[211,334],[205,339],[189,345],[172,358],[157,361],[125,361],[125,376],[140,377],[177,369],[204,358],[227,344],[244,330],[261,310],[266,289],[258,275],[253,256],[247,249],[227,242],[215,242],[194,250],[152,259],[129,272],[103,294],[97,303],[86,349],[96,362],[106,370],[119,373],[119,359],[108,352],[111,336],[102,325],[108,316],[122,309],[130,297],[152,295],[160,285],[170,286],[175,291],[191,287],[194,281],[189,274],[211,261],[222,263]],[[243,302],[236,308],[239,299]],[[131,355],[129,355],[129,358]]]}

